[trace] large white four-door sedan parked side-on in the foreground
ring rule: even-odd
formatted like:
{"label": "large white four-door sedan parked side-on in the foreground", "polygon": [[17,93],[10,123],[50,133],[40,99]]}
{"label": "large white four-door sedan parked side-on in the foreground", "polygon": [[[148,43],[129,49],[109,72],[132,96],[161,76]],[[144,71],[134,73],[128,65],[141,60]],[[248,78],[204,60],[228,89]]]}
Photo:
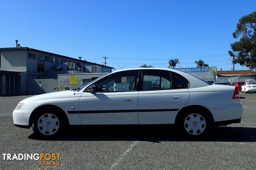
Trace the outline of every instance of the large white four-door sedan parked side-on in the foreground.
{"label": "large white four-door sedan parked side-on in the foreground", "polygon": [[200,137],[213,125],[240,123],[238,88],[212,85],[172,69],[135,68],[106,74],[76,91],[22,100],[13,111],[18,127],[55,137],[72,125],[176,124]]}

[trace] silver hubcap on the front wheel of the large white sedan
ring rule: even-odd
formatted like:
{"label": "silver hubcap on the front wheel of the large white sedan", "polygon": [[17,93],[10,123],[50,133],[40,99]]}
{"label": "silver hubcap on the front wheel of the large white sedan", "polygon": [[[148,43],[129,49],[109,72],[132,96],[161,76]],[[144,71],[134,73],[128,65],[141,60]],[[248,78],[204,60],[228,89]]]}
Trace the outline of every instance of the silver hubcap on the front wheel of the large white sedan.
{"label": "silver hubcap on the front wheel of the large white sedan", "polygon": [[37,127],[42,134],[52,135],[58,131],[60,121],[56,115],[46,113],[38,119]]}

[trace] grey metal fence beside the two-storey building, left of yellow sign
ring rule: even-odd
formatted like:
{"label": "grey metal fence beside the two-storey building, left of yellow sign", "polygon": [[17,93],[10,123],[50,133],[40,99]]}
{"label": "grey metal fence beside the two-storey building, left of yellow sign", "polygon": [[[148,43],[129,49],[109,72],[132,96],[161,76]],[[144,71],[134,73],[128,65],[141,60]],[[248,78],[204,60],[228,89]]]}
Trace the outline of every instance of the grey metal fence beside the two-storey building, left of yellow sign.
{"label": "grey metal fence beside the two-storey building, left of yellow sign", "polygon": [[57,79],[32,79],[27,80],[27,94],[43,94],[54,92]]}

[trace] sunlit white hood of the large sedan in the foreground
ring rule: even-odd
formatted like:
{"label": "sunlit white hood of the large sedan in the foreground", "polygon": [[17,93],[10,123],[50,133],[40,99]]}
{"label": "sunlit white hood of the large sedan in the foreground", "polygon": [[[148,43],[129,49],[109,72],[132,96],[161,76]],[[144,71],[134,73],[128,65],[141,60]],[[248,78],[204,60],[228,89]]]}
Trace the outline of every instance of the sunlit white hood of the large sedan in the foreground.
{"label": "sunlit white hood of the large sedan in the foreground", "polygon": [[75,94],[76,95],[74,95],[74,91],[71,91],[71,90],[64,90],[61,92],[51,92],[51,93],[45,93],[45,94],[40,94],[40,95],[26,98],[19,103],[27,103],[32,101],[56,99],[56,98],[80,97],[80,94],[82,94],[82,92],[75,92]]}

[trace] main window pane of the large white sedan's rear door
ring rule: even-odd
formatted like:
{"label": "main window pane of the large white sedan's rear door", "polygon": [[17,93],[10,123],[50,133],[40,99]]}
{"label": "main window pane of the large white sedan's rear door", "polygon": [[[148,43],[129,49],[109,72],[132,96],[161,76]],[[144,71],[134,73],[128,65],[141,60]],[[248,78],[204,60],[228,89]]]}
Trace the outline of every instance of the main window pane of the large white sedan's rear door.
{"label": "main window pane of the large white sedan's rear door", "polygon": [[164,70],[143,70],[142,90],[171,89],[171,74]]}

